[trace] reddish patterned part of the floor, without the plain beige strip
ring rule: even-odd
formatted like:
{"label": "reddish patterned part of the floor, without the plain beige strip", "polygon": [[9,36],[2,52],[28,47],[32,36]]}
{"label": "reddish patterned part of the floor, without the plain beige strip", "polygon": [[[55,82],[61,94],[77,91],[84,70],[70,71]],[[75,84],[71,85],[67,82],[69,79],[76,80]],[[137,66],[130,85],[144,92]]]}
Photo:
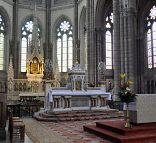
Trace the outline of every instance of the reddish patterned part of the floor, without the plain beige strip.
{"label": "reddish patterned part of the floor, without the plain beige strip", "polygon": [[71,143],[110,143],[93,134],[83,131],[86,124],[95,124],[97,120],[73,121],[73,122],[42,122],[43,125],[50,128],[65,137]]}

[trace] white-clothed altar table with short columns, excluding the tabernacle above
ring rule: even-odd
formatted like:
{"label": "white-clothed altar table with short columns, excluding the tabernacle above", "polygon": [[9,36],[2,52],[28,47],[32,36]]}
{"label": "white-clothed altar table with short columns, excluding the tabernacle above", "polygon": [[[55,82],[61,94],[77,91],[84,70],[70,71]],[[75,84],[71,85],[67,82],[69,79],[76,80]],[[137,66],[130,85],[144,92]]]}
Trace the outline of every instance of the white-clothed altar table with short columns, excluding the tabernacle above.
{"label": "white-clothed altar table with short columns, excluding the tabernacle above", "polygon": [[53,111],[103,109],[107,107],[106,100],[110,94],[100,90],[52,90],[50,93],[53,98]]}

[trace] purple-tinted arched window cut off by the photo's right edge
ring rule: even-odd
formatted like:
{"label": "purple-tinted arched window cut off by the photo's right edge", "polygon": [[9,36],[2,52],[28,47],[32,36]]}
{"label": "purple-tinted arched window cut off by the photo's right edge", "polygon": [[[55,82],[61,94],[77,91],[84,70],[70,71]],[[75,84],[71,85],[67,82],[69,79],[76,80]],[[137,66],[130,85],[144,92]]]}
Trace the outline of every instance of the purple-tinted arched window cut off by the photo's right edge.
{"label": "purple-tinted arched window cut off by the photo's right edge", "polygon": [[147,36],[147,65],[148,68],[156,68],[156,6],[150,9],[146,18]]}

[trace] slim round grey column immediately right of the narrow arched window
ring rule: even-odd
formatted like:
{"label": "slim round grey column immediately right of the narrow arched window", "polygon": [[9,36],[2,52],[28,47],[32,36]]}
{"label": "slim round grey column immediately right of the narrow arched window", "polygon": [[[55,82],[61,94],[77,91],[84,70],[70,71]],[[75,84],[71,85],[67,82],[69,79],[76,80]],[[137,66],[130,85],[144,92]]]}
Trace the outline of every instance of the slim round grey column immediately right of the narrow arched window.
{"label": "slim round grey column immediately right of the narrow arched window", "polygon": [[119,74],[120,74],[120,15],[119,0],[113,0],[113,67],[114,67],[114,91],[117,94],[119,90]]}

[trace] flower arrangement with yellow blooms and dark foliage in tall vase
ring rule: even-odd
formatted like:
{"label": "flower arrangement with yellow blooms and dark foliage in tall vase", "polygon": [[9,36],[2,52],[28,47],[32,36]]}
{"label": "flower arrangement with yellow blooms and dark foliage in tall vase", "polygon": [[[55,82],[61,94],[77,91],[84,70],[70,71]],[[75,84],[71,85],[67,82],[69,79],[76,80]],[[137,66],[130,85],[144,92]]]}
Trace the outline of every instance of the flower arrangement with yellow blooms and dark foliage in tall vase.
{"label": "flower arrangement with yellow blooms and dark foliage in tall vase", "polygon": [[121,85],[120,90],[118,92],[118,96],[121,100],[121,102],[125,102],[126,104],[129,104],[130,102],[133,102],[136,98],[136,94],[133,93],[130,89],[130,85],[133,84],[132,80],[125,80],[126,74],[120,74],[121,79]]}

